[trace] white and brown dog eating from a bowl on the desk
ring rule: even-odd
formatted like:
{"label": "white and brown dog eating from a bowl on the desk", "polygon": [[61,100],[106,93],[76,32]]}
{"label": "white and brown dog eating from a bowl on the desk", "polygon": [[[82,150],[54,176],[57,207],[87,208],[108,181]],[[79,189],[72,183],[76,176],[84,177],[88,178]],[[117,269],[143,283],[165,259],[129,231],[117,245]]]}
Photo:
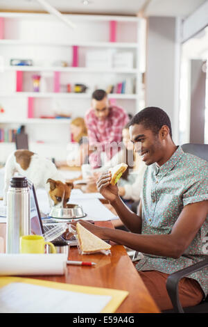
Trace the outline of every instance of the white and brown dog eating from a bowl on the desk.
{"label": "white and brown dog eating from a bowl on the desk", "polygon": [[17,150],[12,152],[6,161],[3,197],[4,205],[6,205],[6,193],[9,188],[10,179],[15,172],[31,180],[35,189],[44,187],[49,196],[49,204],[51,207],[67,207],[71,189],[73,189],[73,183],[64,182],[62,175],[58,172],[52,161],[42,158],[38,154],[28,150]]}

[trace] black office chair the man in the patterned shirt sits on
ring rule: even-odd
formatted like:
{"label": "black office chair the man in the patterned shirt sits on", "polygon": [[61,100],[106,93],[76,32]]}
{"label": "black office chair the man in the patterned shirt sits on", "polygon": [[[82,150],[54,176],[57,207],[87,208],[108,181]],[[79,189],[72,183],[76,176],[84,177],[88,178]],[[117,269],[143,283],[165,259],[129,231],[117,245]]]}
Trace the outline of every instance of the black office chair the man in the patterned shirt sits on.
{"label": "black office chair the man in the patterned shirt sits on", "polygon": [[[196,144],[196,143],[187,143],[182,145],[182,150],[184,152],[188,152],[194,154],[206,161],[208,161],[208,144]],[[168,276],[166,282],[166,289],[168,292],[168,296],[171,298],[171,302],[173,304],[173,310],[164,310],[163,313],[207,313],[208,312],[208,296],[203,300],[200,304],[195,305],[193,307],[182,308],[182,305],[179,300],[178,294],[178,283],[181,278],[191,275],[191,273],[195,273],[196,271],[200,271],[208,266],[208,256],[207,259],[198,262],[197,264],[193,264],[188,266],[187,268],[181,269],[180,271],[176,271],[175,273],[171,273]],[[208,280],[207,280],[208,282]]]}

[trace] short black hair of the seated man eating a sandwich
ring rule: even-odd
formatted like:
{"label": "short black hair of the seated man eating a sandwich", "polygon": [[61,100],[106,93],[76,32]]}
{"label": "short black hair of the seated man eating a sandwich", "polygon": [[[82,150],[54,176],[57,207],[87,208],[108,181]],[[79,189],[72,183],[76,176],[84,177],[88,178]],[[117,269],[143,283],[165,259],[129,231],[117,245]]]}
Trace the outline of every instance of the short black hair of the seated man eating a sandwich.
{"label": "short black hair of the seated man eating a sandwich", "polygon": [[169,133],[172,138],[171,120],[166,112],[156,106],[148,106],[139,111],[132,120],[129,126],[142,124],[146,129],[150,129],[154,134],[158,134],[162,126],[166,125],[169,128]]}

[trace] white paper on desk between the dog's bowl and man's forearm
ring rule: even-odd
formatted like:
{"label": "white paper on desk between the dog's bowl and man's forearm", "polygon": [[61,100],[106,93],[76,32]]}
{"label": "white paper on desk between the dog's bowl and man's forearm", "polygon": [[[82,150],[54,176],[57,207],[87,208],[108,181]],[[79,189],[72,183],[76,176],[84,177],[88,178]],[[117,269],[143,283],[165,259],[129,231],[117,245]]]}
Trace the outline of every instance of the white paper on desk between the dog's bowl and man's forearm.
{"label": "white paper on desk between the dog's bowl and man's forearm", "polygon": [[[71,202],[73,200],[73,202]],[[94,221],[112,221],[118,219],[117,216],[105,207],[98,199],[71,199],[69,203],[77,204],[83,207],[83,211],[87,216],[83,220],[92,219]]]}

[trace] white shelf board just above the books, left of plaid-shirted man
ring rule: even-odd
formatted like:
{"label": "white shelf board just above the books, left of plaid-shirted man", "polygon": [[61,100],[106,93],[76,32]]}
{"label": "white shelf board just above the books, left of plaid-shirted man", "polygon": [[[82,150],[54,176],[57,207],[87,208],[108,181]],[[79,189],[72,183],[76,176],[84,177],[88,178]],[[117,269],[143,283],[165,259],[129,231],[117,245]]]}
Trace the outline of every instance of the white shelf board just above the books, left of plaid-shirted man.
{"label": "white shelf board just above the books, left of plaid-shirted man", "polygon": [[26,118],[22,120],[0,120],[1,124],[70,124],[71,119],[64,118],[54,118],[54,119],[46,119],[46,118]]}

